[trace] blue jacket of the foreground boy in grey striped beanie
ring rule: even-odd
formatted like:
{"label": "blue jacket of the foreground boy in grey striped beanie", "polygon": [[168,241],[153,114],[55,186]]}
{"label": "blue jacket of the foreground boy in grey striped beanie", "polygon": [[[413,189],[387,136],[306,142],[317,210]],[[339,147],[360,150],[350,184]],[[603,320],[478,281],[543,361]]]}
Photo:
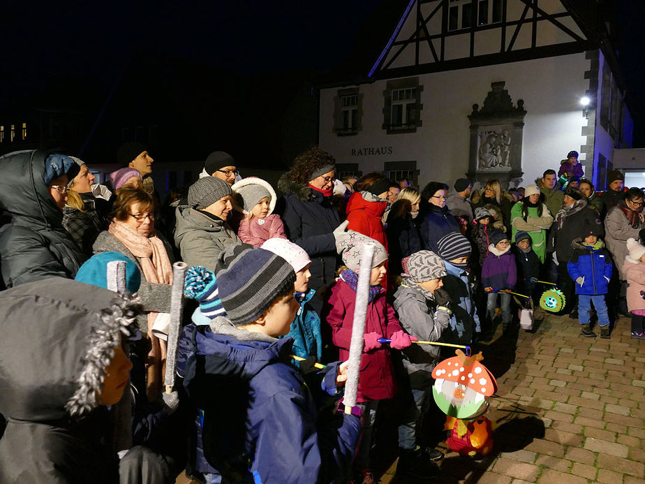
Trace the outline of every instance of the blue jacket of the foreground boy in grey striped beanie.
{"label": "blue jacket of the foreground boy in grey striped beanie", "polygon": [[[212,332],[214,323],[186,327],[193,326],[184,331],[182,345],[192,349],[186,352],[184,346],[186,360],[178,361],[184,388],[203,411],[203,457],[227,482],[343,482],[360,433],[359,419],[318,412],[309,388],[289,363],[291,338],[272,339],[234,328],[226,318],[218,320],[228,322],[229,334]],[[335,379],[335,372],[329,374]]]}

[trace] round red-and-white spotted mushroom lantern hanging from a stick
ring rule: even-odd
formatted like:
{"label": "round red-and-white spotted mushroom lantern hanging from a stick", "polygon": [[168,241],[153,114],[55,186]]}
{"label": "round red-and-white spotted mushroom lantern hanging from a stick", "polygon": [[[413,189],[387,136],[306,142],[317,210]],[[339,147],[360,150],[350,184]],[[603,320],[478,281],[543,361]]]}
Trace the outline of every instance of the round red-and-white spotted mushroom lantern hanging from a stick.
{"label": "round red-and-white spotted mushroom lantern hanging from a stick", "polygon": [[497,391],[497,382],[480,363],[484,359],[481,352],[470,357],[459,349],[455,353],[457,356],[443,360],[432,370],[434,401],[448,416],[474,418],[487,409],[484,397]]}

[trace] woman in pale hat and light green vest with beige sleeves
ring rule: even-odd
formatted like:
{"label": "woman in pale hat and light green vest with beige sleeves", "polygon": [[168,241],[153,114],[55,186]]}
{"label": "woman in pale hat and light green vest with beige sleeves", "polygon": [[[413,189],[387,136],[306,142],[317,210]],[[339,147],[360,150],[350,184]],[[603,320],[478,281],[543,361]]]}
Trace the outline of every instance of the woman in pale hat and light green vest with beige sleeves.
{"label": "woman in pale hat and light green vest with beige sleeves", "polygon": [[553,217],[547,205],[540,202],[540,189],[536,185],[528,185],[524,198],[519,200],[511,210],[512,240],[519,230],[528,232],[531,237],[533,252],[544,263],[547,254],[547,230],[553,223]]}

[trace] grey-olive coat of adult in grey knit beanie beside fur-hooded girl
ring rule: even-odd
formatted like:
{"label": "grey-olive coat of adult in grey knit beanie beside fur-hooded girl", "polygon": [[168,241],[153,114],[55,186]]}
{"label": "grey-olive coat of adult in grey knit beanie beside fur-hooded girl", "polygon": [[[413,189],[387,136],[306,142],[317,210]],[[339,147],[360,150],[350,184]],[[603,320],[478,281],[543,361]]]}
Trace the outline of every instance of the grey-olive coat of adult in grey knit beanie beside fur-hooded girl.
{"label": "grey-olive coat of adult in grey knit beanie beside fur-hooded girl", "polygon": [[215,220],[188,205],[177,207],[175,244],[188,265],[203,265],[215,271],[219,255],[232,244],[242,242],[223,220]]}

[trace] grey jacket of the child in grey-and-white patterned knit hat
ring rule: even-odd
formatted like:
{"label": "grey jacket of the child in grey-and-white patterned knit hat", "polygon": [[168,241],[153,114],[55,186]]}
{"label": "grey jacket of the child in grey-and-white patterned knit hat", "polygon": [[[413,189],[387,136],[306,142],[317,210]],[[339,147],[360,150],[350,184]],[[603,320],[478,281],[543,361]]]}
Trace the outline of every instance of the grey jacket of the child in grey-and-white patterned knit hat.
{"label": "grey jacket of the child in grey-and-white patterned knit hat", "polygon": [[[436,311],[434,305],[420,290],[401,285],[394,293],[392,306],[408,335],[421,341],[437,342],[450,324],[450,316],[445,311]],[[432,369],[440,360],[438,348],[431,344],[412,344],[403,350],[403,366],[410,375],[413,388],[431,383]]]}

